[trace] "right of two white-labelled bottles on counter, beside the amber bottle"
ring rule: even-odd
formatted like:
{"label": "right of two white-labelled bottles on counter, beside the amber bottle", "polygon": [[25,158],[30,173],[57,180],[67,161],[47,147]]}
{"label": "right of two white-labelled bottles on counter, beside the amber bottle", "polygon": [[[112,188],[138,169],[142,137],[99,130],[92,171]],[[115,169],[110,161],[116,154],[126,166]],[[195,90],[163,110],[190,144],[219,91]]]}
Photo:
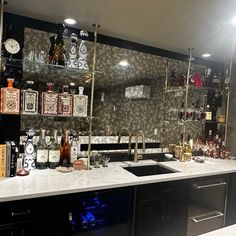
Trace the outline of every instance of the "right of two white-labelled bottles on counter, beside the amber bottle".
{"label": "right of two white-labelled bottles on counter, beside the amber bottle", "polygon": [[54,130],[53,141],[49,146],[48,152],[48,167],[55,169],[60,163],[60,145],[57,138],[57,130]]}

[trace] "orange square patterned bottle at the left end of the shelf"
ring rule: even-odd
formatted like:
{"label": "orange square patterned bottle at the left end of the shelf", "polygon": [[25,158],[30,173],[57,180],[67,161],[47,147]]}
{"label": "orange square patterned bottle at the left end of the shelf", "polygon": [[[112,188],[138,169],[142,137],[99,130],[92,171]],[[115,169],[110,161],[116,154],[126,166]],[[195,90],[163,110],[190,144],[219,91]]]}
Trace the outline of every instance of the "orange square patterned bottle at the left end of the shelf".
{"label": "orange square patterned bottle at the left end of the shelf", "polygon": [[1,88],[1,113],[19,114],[20,90],[13,88],[14,79],[7,79],[7,87]]}

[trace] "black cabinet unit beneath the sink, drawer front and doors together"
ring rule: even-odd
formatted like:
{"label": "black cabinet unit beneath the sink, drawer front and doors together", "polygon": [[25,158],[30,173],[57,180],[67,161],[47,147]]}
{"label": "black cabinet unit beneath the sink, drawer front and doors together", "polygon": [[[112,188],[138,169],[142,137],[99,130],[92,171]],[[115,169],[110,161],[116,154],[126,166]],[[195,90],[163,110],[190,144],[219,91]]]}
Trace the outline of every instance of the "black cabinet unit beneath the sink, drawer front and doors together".
{"label": "black cabinet unit beneath the sink, drawer front and doors together", "polygon": [[137,187],[134,235],[185,235],[188,207],[186,187],[184,181]]}

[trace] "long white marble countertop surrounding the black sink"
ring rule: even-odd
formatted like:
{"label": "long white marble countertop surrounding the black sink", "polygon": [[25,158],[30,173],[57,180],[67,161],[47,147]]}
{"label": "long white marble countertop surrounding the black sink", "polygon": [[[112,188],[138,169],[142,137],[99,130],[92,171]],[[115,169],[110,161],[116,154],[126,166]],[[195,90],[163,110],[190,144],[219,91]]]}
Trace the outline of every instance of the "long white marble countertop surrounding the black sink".
{"label": "long white marble countertop surrounding the black sink", "polygon": [[30,175],[24,177],[0,178],[0,202],[236,172],[236,161],[212,158],[207,159],[205,163],[159,162],[159,165],[179,171],[162,175],[137,177],[122,168],[129,164],[135,166],[156,163],[152,160],[138,163],[111,162],[109,167],[92,170],[61,173],[46,169],[31,171]]}

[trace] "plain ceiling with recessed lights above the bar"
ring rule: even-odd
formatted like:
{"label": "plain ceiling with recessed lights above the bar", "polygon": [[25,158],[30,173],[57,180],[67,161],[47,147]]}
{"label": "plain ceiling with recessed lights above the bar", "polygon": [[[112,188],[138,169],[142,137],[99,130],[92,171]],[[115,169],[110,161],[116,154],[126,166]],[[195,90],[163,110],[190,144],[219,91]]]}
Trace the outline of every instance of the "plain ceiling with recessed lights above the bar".
{"label": "plain ceiling with recessed lights above the bar", "polygon": [[59,23],[66,17],[75,27],[157,48],[194,55],[211,53],[211,60],[236,55],[236,0],[8,0],[5,11]]}

